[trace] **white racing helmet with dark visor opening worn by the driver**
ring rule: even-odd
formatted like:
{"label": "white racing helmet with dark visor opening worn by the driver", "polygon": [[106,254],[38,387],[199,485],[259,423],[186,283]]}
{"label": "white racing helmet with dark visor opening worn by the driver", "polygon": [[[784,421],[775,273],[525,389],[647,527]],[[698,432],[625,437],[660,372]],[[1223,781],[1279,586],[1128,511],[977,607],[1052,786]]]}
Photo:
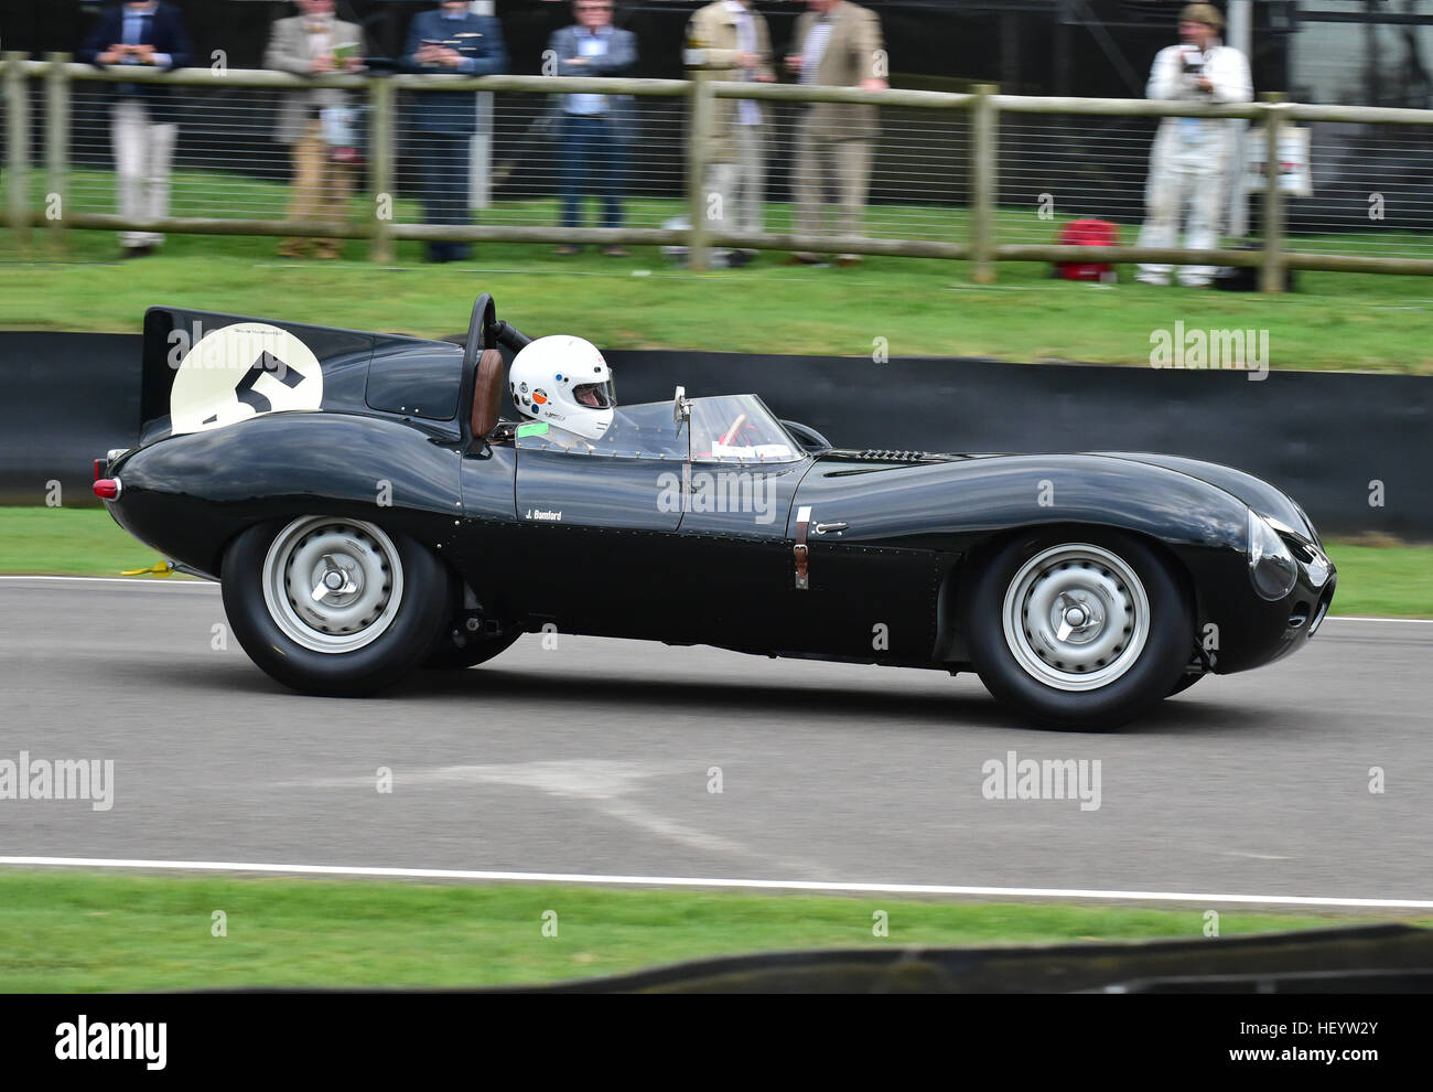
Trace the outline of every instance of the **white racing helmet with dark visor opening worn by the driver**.
{"label": "white racing helmet with dark visor opening worn by the driver", "polygon": [[612,368],[580,337],[540,337],[513,358],[507,373],[517,411],[598,440],[612,424]]}

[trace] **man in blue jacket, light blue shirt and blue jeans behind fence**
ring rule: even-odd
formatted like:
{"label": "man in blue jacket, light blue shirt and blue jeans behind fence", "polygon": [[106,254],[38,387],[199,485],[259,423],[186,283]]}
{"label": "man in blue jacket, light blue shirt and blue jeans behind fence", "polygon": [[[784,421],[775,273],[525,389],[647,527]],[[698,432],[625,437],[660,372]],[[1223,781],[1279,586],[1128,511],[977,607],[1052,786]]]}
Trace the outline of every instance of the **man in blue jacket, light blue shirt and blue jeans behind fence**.
{"label": "man in blue jacket, light blue shirt and blue jeans behind fence", "polygon": [[[636,34],[612,26],[612,0],[575,0],[575,26],[553,32],[547,43],[559,76],[620,76],[636,64]],[[562,226],[582,226],[582,199],[602,198],[602,226],[622,226],[622,191],[628,149],[636,139],[636,107],[631,95],[562,96]],[[567,244],[557,254],[580,252]],[[625,258],[620,246],[606,246]]]}

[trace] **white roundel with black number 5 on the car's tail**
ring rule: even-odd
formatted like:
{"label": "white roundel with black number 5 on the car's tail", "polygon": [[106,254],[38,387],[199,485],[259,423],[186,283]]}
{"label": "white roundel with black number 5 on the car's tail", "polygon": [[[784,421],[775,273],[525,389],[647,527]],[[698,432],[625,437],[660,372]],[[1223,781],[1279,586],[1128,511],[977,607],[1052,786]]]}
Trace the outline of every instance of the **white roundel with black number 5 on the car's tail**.
{"label": "white roundel with black number 5 on the car's tail", "polygon": [[171,431],[317,410],[322,401],[324,370],[308,345],[268,322],[235,322],[205,334],[179,363],[169,391]]}

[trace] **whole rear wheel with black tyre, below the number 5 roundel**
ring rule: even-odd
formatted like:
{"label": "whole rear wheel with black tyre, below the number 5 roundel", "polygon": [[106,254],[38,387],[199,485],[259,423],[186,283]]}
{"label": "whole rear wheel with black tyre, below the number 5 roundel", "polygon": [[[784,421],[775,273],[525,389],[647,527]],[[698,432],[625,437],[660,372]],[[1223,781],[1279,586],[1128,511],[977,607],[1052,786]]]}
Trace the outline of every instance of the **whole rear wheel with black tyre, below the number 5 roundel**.
{"label": "whole rear wheel with black tyre, below the number 5 roundel", "polygon": [[424,546],[344,516],[249,527],[221,580],[249,659],[285,686],[332,696],[371,694],[420,664],[454,595]]}

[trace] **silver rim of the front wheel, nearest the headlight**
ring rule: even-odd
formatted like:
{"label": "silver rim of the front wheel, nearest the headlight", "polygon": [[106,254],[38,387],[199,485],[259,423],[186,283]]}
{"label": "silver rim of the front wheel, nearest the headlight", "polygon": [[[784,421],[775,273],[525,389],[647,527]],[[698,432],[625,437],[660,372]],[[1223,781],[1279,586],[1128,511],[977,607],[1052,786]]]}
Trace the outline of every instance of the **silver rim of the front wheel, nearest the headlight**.
{"label": "silver rim of the front wheel, nearest the headlight", "polygon": [[1052,546],[1010,580],[1005,642],[1032,678],[1062,691],[1108,686],[1149,641],[1149,598],[1119,556],[1089,543]]}

